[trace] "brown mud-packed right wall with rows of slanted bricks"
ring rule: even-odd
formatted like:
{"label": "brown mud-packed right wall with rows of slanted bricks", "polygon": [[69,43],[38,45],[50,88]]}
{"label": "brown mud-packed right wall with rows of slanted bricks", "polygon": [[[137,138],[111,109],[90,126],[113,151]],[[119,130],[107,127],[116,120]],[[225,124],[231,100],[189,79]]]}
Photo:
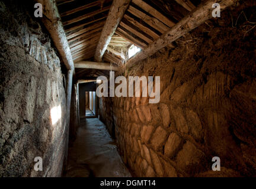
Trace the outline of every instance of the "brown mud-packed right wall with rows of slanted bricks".
{"label": "brown mud-packed right wall with rows of slanted bricks", "polygon": [[[175,49],[127,70],[126,76],[161,76],[159,103],[100,99],[101,118],[115,129],[133,175],[256,175],[256,30],[249,23],[256,8],[243,9],[222,12],[213,28],[200,26]],[[220,158],[220,171],[212,171],[213,157]]]}

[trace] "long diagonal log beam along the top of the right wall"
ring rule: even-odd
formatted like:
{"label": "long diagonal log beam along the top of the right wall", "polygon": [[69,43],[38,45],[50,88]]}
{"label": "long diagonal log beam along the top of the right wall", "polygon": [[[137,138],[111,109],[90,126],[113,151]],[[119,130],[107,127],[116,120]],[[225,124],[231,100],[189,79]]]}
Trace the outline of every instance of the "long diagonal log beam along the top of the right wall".
{"label": "long diagonal log beam along the top of the right wall", "polygon": [[182,37],[187,32],[199,27],[199,25],[203,24],[203,22],[212,18],[212,4],[217,2],[220,4],[221,9],[225,9],[228,6],[233,5],[235,1],[236,0],[208,0],[203,2],[198,8],[194,9],[190,12],[190,14],[181,19],[181,21],[169,31],[165,32],[163,35],[161,35],[161,37],[149,44],[148,47],[138,53],[137,56],[130,58],[126,64],[126,67],[130,68],[138,61],[152,56],[161,48],[166,47],[168,44]]}

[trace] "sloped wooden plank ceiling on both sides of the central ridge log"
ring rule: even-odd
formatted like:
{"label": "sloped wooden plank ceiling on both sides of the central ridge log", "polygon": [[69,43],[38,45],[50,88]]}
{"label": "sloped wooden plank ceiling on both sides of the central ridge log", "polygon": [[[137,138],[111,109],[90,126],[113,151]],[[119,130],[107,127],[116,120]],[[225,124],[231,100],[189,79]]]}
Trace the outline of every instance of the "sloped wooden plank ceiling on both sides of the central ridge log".
{"label": "sloped wooden plank ceiling on both sides of the central ridge log", "polygon": [[[57,0],[74,63],[93,60],[111,3]],[[200,3],[201,0],[132,0],[105,51],[104,61],[123,64],[131,44],[148,47]]]}

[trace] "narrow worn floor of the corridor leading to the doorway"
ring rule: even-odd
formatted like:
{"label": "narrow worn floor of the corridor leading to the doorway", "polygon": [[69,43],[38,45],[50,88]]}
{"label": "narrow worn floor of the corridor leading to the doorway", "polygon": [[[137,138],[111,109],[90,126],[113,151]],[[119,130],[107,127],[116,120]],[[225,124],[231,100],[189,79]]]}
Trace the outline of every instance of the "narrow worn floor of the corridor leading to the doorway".
{"label": "narrow worn floor of the corridor leading to the doorway", "polygon": [[66,177],[131,177],[99,119],[81,119],[76,140],[69,147]]}

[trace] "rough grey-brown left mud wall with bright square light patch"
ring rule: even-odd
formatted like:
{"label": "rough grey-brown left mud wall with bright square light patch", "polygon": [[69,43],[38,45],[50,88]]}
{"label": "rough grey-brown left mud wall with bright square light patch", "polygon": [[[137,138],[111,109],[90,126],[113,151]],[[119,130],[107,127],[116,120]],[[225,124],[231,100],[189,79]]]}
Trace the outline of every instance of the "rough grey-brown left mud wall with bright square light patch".
{"label": "rough grey-brown left mud wall with bright square light patch", "polygon": [[0,1],[0,177],[55,177],[66,145],[65,76],[27,2]]}

